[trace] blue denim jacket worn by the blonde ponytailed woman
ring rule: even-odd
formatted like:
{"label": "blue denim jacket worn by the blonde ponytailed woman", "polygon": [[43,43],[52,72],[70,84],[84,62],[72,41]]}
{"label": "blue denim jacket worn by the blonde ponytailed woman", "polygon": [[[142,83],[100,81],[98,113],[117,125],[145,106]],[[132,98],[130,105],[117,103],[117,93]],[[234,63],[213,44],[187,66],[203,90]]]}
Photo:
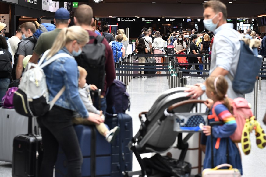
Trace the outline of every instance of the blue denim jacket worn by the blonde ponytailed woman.
{"label": "blue denim jacket worn by the blonde ponytailed woman", "polygon": [[[59,50],[58,53],[70,54],[66,48]],[[55,102],[55,105],[77,111],[83,118],[88,117],[88,111],[78,92],[79,71],[76,60],[68,57],[59,58],[45,66],[43,71],[46,75],[49,101],[55,97],[63,86],[66,86],[66,90]]]}

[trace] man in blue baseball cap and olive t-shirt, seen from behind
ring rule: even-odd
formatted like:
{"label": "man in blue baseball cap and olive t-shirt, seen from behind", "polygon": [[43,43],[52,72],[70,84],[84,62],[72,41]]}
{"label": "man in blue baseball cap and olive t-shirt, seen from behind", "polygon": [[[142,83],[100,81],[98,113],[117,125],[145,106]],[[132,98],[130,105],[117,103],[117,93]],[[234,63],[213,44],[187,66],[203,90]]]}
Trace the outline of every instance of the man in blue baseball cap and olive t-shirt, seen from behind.
{"label": "man in blue baseball cap and olive t-shirt, seen from behind", "polygon": [[54,40],[61,31],[61,29],[68,27],[70,23],[69,12],[63,7],[59,8],[55,12],[54,22],[56,29],[41,34],[34,47],[33,54],[29,62],[37,63],[40,55],[52,47]]}

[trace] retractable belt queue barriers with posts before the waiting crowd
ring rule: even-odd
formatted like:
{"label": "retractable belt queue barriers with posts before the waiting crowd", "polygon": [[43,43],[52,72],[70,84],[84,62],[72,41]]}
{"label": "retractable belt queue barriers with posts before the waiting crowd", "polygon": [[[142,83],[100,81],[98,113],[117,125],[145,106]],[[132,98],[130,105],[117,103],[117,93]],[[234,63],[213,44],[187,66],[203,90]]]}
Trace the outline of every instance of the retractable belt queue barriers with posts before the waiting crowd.
{"label": "retractable belt queue barriers with posts before the waiting crowd", "polygon": [[[208,58],[209,55],[207,55]],[[136,62],[137,57],[145,57],[146,61],[147,58],[154,58],[154,57],[165,57],[165,62],[163,63],[138,63]],[[203,57],[204,63],[179,63],[176,60],[176,57]],[[204,54],[200,55],[183,55],[183,54],[129,54],[128,57],[125,58],[124,61],[119,61],[119,63],[115,64],[116,67],[116,75],[117,79],[124,82],[126,85],[129,85],[132,78],[135,77],[167,77],[169,82],[169,87],[177,87],[186,84],[186,78],[183,76],[191,76],[191,77],[208,77],[208,66],[210,63],[205,63],[206,56]],[[161,66],[159,66],[161,65]],[[203,70],[186,70],[182,69],[182,66],[179,65],[203,65]],[[207,69],[205,69],[205,67]],[[165,71],[166,74],[140,74],[136,71],[145,71],[145,72],[160,72]],[[190,73],[183,73],[183,72],[202,72],[202,75],[199,74],[190,74]],[[175,79],[174,79],[175,78]]]}

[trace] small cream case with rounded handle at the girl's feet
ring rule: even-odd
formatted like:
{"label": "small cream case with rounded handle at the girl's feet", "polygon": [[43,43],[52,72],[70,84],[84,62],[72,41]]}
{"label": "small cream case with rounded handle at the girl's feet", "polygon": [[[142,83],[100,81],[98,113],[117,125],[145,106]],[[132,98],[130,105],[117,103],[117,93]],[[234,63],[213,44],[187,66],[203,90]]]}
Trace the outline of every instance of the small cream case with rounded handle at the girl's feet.
{"label": "small cream case with rounded handle at the girl's feet", "polygon": [[[229,167],[229,169],[220,169]],[[202,172],[202,177],[241,177],[238,169],[233,168],[230,164],[221,164],[215,168],[206,168]]]}

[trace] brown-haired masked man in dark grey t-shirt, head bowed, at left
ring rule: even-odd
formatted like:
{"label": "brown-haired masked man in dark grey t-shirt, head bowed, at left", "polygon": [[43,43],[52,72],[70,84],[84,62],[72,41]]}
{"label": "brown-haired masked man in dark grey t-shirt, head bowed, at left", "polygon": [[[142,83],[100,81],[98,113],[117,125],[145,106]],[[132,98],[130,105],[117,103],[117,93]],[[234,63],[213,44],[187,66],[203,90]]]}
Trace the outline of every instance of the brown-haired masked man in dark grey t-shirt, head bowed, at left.
{"label": "brown-haired masked man in dark grey t-shirt, head bowed, at left", "polygon": [[[32,55],[34,43],[33,41],[33,33],[36,31],[36,27],[32,22],[22,23],[21,26],[22,38],[29,38],[30,40],[23,40],[20,42],[18,48],[18,61],[16,67],[16,79],[19,79],[22,76],[23,71],[23,59],[27,55]],[[31,40],[32,39],[32,40]]]}

